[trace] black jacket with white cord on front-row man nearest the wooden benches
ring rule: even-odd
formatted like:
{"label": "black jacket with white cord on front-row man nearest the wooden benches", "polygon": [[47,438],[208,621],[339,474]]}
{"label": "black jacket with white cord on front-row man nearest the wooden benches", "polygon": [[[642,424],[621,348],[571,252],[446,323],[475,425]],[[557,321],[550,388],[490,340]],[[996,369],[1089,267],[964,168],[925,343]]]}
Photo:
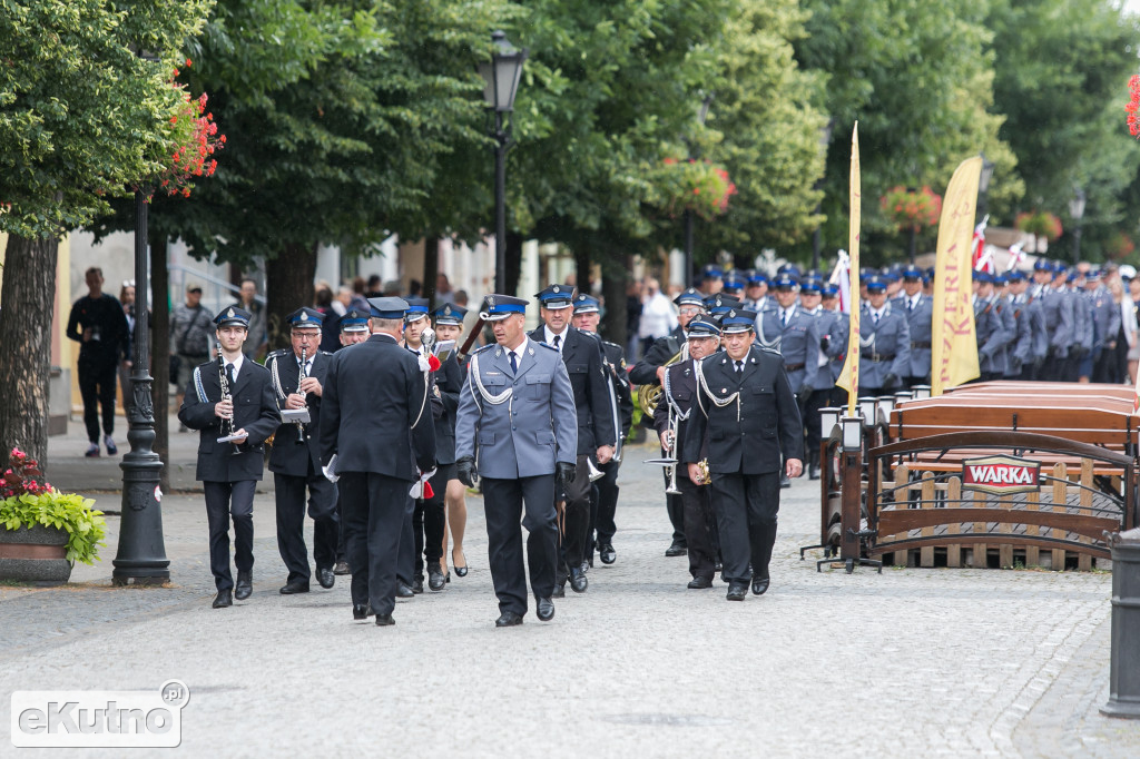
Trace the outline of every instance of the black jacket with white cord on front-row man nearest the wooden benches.
{"label": "black jacket with white cord on front-row man nearest the wooden benches", "polygon": [[[731,474],[780,472],[783,458],[804,459],[804,425],[783,361],[773,351],[750,351],[739,375],[726,352],[701,361],[703,386],[682,441],[681,460],[701,460],[708,439],[709,471]],[[709,397],[736,400],[717,406]]]}

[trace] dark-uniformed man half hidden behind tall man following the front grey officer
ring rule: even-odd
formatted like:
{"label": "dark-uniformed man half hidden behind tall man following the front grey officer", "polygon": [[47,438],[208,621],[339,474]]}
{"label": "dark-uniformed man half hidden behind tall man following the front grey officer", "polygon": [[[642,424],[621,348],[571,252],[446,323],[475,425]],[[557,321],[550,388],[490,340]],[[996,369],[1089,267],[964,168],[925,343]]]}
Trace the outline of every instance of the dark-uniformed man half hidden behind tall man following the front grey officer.
{"label": "dark-uniformed man half hidden behind tall man following the front grey officer", "polygon": [[[601,340],[597,324],[601,320],[602,305],[596,297],[578,295],[573,301],[573,326],[585,335],[597,337],[602,345],[602,367],[610,382],[610,414],[619,427],[619,436],[625,440],[634,419],[634,401],[629,393],[629,375],[626,372],[626,352],[621,345]],[[598,557],[603,564],[612,564],[618,554],[613,549],[613,536],[618,531],[613,516],[618,507],[618,467],[621,462],[614,456],[597,468],[602,476],[594,481],[589,501],[589,534],[586,548],[587,561],[594,565],[594,546],[597,546]],[[596,536],[596,541],[594,537]]]}

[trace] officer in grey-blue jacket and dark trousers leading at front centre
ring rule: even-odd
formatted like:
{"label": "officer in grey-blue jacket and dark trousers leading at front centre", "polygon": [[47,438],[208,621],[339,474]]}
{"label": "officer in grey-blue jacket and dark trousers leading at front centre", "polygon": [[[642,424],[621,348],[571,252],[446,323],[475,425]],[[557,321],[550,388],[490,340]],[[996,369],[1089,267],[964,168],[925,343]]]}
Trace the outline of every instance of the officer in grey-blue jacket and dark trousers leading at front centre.
{"label": "officer in grey-blue jacket and dark trousers leading at front centre", "polygon": [[536,612],[543,621],[554,617],[555,480],[560,488],[571,485],[578,459],[570,376],[555,348],[528,337],[526,311],[521,297],[484,300],[480,317],[491,323],[496,342],[471,357],[455,425],[459,480],[470,488],[482,479],[487,554],[500,612],[496,627],[521,625],[527,613],[523,508]]}

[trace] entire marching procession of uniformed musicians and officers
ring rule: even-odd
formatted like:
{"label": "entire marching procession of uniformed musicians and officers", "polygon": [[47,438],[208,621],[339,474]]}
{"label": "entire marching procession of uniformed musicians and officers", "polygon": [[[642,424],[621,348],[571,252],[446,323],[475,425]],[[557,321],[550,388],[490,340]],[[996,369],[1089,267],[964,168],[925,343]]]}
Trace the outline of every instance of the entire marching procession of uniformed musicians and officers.
{"label": "entire marching procession of uniformed musicians and officers", "polygon": [[[930,272],[864,274],[860,394],[929,382]],[[1064,266],[1044,261],[1032,283],[1018,271],[976,272],[980,378],[1099,378],[1121,310],[1096,272],[1082,278],[1075,287]],[[634,385],[661,387],[644,422],[662,448],[666,555],[689,557],[690,588],[712,587],[720,572],[728,599],[744,599],[749,587],[762,595],[780,489],[805,463],[819,478],[819,411],[841,402],[834,382],[849,319],[838,295],[790,266],[771,278],[707,269],[700,288],[674,301],[678,327],[633,367],[600,338],[597,300],[565,285],[536,295],[543,324],[529,333],[528,301],[487,296],[479,316],[495,341],[470,357],[459,350],[465,309],[429,313],[423,299],[375,297],[340,318],[335,353],[319,350],[326,317],[298,309],[290,346],[260,366],[243,353],[250,313],[227,308],[214,319],[217,359],[194,369],[179,410],[201,431],[213,605],[252,593],[253,496],[268,444],[288,572],[282,594],[310,589],[308,514],[320,587],[351,574],[353,618],[393,625],[396,598],[422,593],[425,570],[430,590],[450,582],[447,500],[479,487],[496,625],[520,625],[531,597],[549,620],[568,585],[586,591],[595,556],[617,561],[617,475]],[[466,574],[465,562],[454,569]]]}

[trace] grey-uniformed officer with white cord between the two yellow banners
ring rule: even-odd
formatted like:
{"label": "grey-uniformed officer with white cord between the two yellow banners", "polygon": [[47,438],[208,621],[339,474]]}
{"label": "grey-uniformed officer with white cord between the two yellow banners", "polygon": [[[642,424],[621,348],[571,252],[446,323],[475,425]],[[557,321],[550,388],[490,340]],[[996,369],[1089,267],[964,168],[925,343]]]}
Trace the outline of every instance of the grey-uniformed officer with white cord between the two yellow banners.
{"label": "grey-uniformed officer with white cord between the two yellow banners", "polygon": [[911,328],[887,302],[887,280],[866,279],[868,302],[860,316],[860,395],[882,395],[902,386],[911,366]]}

